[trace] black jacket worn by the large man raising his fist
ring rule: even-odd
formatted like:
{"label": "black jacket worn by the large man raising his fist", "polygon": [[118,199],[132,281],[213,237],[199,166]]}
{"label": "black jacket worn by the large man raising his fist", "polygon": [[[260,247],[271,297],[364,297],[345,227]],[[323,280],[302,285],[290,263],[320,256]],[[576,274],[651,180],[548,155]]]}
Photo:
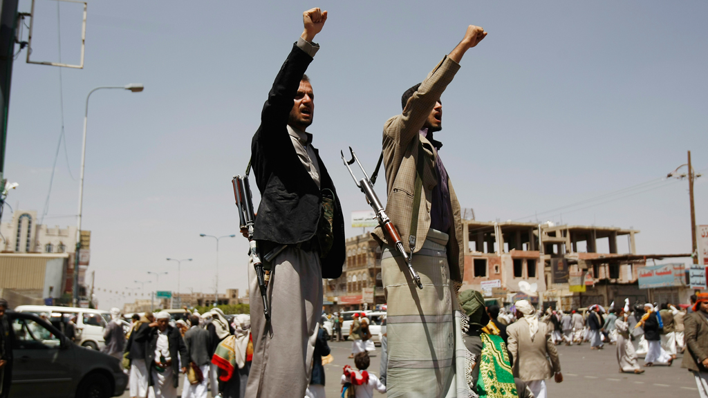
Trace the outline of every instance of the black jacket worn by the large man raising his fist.
{"label": "black jacket worn by the large man raising his fist", "polygon": [[[309,241],[317,232],[322,194],[302,166],[287,132],[293,98],[310,62],[312,57],[297,45],[292,46],[268,93],[268,101],[261,112],[261,126],[251,142],[251,166],[261,192],[254,225],[254,238],[259,241],[297,244]],[[317,149],[314,152],[320,167],[321,190],[330,189],[336,196],[324,162]],[[328,256],[321,258],[323,278],[338,278],[345,260],[344,218],[338,198],[333,232],[332,249]]]}

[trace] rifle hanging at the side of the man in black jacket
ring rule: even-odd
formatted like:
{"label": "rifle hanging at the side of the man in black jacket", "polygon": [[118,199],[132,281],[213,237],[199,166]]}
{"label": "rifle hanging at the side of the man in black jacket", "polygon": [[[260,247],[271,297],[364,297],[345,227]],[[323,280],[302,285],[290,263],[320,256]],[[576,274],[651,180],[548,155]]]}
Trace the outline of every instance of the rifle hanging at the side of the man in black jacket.
{"label": "rifle hanging at the side of the man in black jacket", "polygon": [[[263,300],[263,315],[265,315],[265,322],[270,321],[270,312],[268,311],[268,297],[266,293],[266,288],[268,288],[268,280],[270,280],[270,271],[266,271],[263,268],[263,263],[261,262],[261,255],[258,251],[258,243],[253,239],[253,223],[256,220],[256,215],[253,213],[253,200],[251,199],[251,186],[249,186],[249,170],[251,169],[251,164],[249,164],[249,169],[246,169],[245,176],[234,176],[232,183],[234,185],[234,196],[236,197],[236,207],[239,207],[239,221],[241,232],[244,229],[248,233],[249,247],[251,255],[251,260],[253,260],[253,268],[256,269],[256,280],[258,280],[258,290],[261,292],[261,299]],[[277,248],[270,251],[270,253],[265,255],[265,261],[270,263],[271,260],[280,252],[285,249],[287,245],[283,244]]]}

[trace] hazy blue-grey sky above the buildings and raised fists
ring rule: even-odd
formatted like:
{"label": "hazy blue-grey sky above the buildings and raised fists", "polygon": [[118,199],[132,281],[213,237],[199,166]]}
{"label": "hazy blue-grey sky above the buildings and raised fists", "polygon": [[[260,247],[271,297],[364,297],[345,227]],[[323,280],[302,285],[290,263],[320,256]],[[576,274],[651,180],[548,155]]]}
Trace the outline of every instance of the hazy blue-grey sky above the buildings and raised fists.
{"label": "hazy blue-grey sky above the buildings and raised fists", "polygon": [[[57,3],[37,4],[31,58],[79,62],[81,7],[62,4],[58,28]],[[246,168],[263,102],[313,6],[329,17],[307,71],[308,131],[345,220],[367,204],[339,151],[353,147],[372,171],[401,94],[474,24],[489,35],[443,94],[435,138],[477,220],[634,228],[639,253],[687,253],[687,181],[661,178],[691,150],[704,174],[696,220],[708,224],[705,1],[89,1],[84,69],[27,64],[26,49],[15,61],[5,176],[20,184],[8,196],[14,210],[44,212],[63,115],[44,223],[75,224],[86,95],[144,84],[97,91],[89,104],[83,223],[99,307],[122,307],[135,280],[154,290],[148,271],[169,272],[157,288],[176,290],[168,257],[193,258],[182,292],[213,293],[215,240],[199,234],[238,232],[230,180]],[[221,240],[220,292],[243,294],[247,246]]]}

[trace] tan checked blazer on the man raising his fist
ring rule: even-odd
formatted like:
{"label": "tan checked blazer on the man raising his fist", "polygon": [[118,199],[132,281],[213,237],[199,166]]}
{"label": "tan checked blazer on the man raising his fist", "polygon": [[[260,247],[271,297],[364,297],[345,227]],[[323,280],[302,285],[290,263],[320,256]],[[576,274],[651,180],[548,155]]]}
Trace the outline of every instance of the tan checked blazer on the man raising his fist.
{"label": "tan checked blazer on the man raising his fist", "polygon": [[[411,232],[411,215],[413,212],[413,195],[416,193],[416,165],[418,164],[418,143],[423,143],[426,159],[424,162],[423,189],[421,194],[425,195],[425,200],[421,197],[421,206],[418,208],[418,229],[416,232],[416,249],[423,247],[423,242],[428,235],[430,228],[430,201],[432,200],[433,188],[438,185],[438,178],[435,174],[435,159],[438,152],[430,144],[430,141],[422,137],[418,132],[423,128],[423,124],[433,110],[435,102],[440,99],[440,95],[447,84],[450,84],[455,73],[459,70],[459,64],[452,59],[445,57],[433,69],[428,77],[423,81],[416,93],[406,104],[401,115],[390,118],[384,124],[383,152],[384,167],[386,170],[386,192],[388,200],[386,212],[391,217],[392,222],[398,229],[403,244],[409,249],[409,236]],[[452,233],[447,242],[447,262],[450,265],[450,278],[457,283],[462,283],[464,273],[464,251],[462,245],[462,218],[460,217],[459,202],[457,195],[452,188],[452,182],[448,178],[450,187],[450,204],[452,205]],[[444,231],[443,231],[444,232]],[[393,246],[392,241],[381,227],[377,227],[374,236],[379,241]]]}

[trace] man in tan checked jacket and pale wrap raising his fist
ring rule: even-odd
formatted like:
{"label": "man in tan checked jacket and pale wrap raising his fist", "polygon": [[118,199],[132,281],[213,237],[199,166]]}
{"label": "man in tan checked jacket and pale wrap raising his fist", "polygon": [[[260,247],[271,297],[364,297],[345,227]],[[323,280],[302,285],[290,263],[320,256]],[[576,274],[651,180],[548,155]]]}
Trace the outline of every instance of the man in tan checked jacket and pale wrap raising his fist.
{"label": "man in tan checked jacket and pale wrap raising his fist", "polygon": [[416,288],[394,242],[377,228],[388,302],[388,397],[445,397],[467,388],[461,373],[455,377],[455,369],[464,368],[464,358],[455,356],[455,344],[463,344],[455,327],[460,317],[455,287],[464,271],[462,221],[433,132],[442,128],[440,96],[462,55],[485,36],[484,29],[470,25],[450,55],[404,93],[403,113],[384,124],[386,212],[404,244],[413,246],[413,268],[423,284]]}

